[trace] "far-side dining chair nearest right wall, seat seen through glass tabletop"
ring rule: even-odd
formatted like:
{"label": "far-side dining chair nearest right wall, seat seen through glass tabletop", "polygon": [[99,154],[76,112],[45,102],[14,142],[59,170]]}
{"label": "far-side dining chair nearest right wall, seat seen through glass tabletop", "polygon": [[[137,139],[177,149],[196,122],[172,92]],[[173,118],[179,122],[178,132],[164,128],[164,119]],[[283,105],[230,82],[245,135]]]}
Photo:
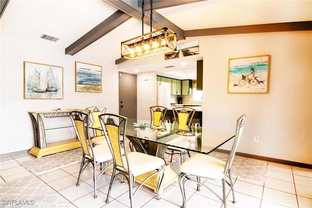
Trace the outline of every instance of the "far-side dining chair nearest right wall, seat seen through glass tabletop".
{"label": "far-side dining chair nearest right wall, seat seen through glass tabletop", "polygon": [[[195,114],[195,109],[191,107],[179,106],[173,108],[174,113],[174,123],[176,128],[176,133],[181,133],[183,135],[187,135],[186,133],[191,133],[194,136],[194,130],[191,126],[193,116]],[[166,151],[166,154],[171,155],[170,163],[172,163],[173,155],[180,155],[180,164],[182,164],[186,159],[186,153],[191,157],[191,153],[189,150],[177,148],[174,146],[170,146],[167,148],[169,150]]]}

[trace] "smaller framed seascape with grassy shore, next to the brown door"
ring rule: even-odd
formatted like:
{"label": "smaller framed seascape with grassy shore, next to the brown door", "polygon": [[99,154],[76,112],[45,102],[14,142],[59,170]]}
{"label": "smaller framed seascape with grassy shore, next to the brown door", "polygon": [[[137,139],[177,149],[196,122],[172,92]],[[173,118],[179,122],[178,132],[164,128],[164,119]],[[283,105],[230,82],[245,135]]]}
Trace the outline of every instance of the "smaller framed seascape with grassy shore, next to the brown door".
{"label": "smaller framed seascape with grassy shore, next to the brown door", "polygon": [[102,66],[75,62],[76,92],[102,92]]}

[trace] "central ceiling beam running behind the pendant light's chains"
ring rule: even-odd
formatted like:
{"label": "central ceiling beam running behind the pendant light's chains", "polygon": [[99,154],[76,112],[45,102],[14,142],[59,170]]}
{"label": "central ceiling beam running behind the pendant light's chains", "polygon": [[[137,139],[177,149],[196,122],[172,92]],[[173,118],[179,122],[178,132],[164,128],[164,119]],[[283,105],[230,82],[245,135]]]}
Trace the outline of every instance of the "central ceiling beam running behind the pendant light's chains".
{"label": "central ceiling beam running behind the pendant light's chains", "polygon": [[[128,1],[129,4],[123,0],[104,0],[104,1],[110,3],[111,5],[115,6],[117,9],[123,11],[124,13],[130,15],[131,17],[133,17],[139,21],[142,21],[142,19],[141,19],[142,18],[142,12],[141,12],[141,8],[137,7],[137,1]],[[187,0],[187,1],[189,2],[189,0]],[[150,19],[149,15],[145,15],[144,23],[151,26],[151,19]],[[176,26],[176,24],[174,24],[171,21],[164,18],[162,15],[160,15],[156,11],[153,11],[152,26],[156,29],[161,29],[161,28],[167,27],[176,33],[176,38],[178,41],[185,39],[184,30],[182,30],[181,28]]]}

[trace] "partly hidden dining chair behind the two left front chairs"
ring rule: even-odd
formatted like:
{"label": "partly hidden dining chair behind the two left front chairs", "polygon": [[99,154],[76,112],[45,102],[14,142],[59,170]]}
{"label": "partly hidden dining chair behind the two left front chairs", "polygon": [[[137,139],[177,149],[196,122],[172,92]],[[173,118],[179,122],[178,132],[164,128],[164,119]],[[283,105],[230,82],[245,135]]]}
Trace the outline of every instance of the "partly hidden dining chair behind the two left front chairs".
{"label": "partly hidden dining chair behind the two left front chairs", "polygon": [[[102,106],[89,106],[86,107],[86,112],[89,114],[90,122],[99,124],[98,115],[103,114],[106,112],[107,107]],[[92,143],[94,145],[106,144],[105,136],[101,130],[93,129],[93,137],[91,138]]]}

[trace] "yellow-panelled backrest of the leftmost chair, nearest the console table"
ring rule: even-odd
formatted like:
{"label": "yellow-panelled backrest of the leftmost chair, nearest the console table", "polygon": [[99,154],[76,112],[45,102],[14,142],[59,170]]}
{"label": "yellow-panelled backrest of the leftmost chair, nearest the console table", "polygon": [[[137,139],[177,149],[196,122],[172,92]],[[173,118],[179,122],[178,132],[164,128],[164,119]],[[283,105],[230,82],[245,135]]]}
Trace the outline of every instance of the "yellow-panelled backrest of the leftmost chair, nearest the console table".
{"label": "yellow-panelled backrest of the leftmost chair, nearest the console table", "polygon": [[72,111],[69,113],[69,116],[80,142],[83,155],[89,155],[90,158],[93,158],[93,146],[90,146],[92,143],[88,134],[89,115],[80,111]]}

